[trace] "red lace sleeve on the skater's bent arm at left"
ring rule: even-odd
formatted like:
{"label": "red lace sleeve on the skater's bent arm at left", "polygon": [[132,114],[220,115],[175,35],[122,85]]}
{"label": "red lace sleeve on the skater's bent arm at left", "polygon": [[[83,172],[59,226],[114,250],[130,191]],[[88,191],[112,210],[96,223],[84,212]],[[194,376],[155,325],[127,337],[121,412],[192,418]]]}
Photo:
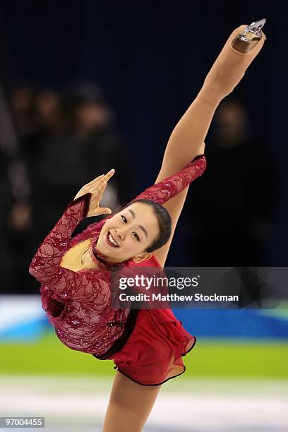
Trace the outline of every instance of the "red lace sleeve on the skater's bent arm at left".
{"label": "red lace sleeve on the skater's bent arm at left", "polygon": [[[60,266],[74,229],[89,209],[91,193],[86,193],[68,204],[64,215],[40,245],[29,267],[30,275],[49,287],[60,299],[85,300],[101,303],[100,293],[109,294],[109,272],[85,275]],[[106,301],[103,303],[107,304]]]}

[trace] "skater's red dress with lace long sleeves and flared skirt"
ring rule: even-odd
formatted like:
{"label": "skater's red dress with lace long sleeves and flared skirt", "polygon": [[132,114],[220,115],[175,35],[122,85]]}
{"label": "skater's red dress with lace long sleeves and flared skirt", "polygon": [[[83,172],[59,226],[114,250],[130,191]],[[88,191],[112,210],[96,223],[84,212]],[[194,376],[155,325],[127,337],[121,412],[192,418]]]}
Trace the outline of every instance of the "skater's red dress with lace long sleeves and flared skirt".
{"label": "skater's red dress with lace long sleeves and flared skirt", "polygon": [[[199,155],[180,172],[150,186],[135,200],[144,198],[163,204],[201,176],[205,168],[205,155]],[[114,368],[136,383],[160,385],[184,373],[182,356],[193,348],[196,337],[183,328],[171,308],[109,307],[111,271],[95,251],[91,256],[101,270],[60,265],[78,246],[97,243],[107,218],[90,224],[71,239],[88,213],[90,197],[91,193],[86,193],[68,204],[32,259],[29,272],[41,283],[42,308],[59,340],[67,347],[97,359],[113,359]],[[154,255],[140,264],[128,260],[121,265],[160,267]]]}

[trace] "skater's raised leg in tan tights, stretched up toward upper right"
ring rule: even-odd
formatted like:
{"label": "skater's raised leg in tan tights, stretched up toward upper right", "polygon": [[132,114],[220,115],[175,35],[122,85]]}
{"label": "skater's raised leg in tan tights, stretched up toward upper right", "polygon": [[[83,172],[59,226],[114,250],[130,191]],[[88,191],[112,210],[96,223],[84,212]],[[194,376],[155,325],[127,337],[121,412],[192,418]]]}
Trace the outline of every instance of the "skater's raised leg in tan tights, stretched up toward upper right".
{"label": "skater's raised leg in tan tights, stretched up toward upper right", "polygon": [[[236,52],[231,47],[231,42],[244,28],[246,28],[246,25],[241,25],[229,36],[208,76],[205,78],[203,88],[172,131],[156,183],[174,174],[174,172],[178,172],[191,162],[194,157],[204,152],[204,140],[217,106],[243,78],[246,68],[260,52],[266,39],[263,33],[262,40],[258,42],[251,52],[248,54]],[[162,266],[164,266],[167,258],[187,192],[188,188],[164,204],[172,217],[172,236],[167,244],[155,251],[155,256]]]}

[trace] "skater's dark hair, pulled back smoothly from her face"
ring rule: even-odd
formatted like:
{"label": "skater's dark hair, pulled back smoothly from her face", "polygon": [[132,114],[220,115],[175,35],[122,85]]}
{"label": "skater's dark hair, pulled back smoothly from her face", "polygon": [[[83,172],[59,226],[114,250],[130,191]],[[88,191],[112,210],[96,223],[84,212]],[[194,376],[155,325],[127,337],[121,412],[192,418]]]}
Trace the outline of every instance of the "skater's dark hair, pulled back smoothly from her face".
{"label": "skater's dark hair, pulled back smoothly from her face", "polygon": [[138,200],[133,200],[130,203],[124,205],[124,207],[121,207],[118,212],[121,212],[121,210],[124,210],[124,208],[128,207],[128,205],[131,205],[133,203],[143,203],[150,205],[152,207],[154,215],[157,217],[158,225],[159,225],[159,233],[157,237],[152,241],[150,246],[146,248],[147,252],[153,252],[157,249],[161,248],[164,244],[167,243],[171,236],[171,229],[172,229],[172,220],[171,216],[169,215],[169,212],[167,212],[166,208],[164,208],[161,204],[155,203],[155,201],[152,200],[145,200],[143,198],[140,198]]}

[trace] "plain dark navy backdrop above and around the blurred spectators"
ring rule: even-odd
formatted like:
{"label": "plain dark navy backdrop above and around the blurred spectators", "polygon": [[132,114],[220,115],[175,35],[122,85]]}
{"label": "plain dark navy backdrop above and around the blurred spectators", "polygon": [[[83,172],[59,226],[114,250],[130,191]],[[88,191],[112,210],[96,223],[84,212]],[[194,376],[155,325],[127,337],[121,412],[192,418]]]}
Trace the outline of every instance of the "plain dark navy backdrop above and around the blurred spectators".
{"label": "plain dark navy backdrop above and around the blurred spectators", "polygon": [[[135,158],[137,188],[151,184],[169,134],[193,101],[229,34],[267,18],[268,40],[236,88],[253,131],[270,147],[282,178],[271,265],[286,265],[287,13],[269,2],[2,1],[6,80],[63,86],[95,80],[119,115]],[[209,145],[209,142],[207,142]]]}

